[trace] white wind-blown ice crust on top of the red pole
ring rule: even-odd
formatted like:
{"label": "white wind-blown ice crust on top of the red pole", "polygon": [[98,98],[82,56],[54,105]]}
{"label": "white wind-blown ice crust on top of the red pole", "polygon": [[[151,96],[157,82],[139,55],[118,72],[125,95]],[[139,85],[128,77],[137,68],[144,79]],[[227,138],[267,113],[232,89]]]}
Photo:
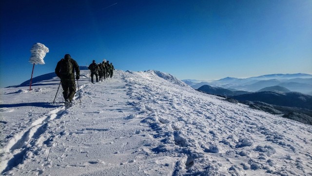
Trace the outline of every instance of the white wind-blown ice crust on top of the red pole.
{"label": "white wind-blown ice crust on top of the red pole", "polygon": [[49,52],[49,48],[44,46],[44,44],[41,43],[35,43],[31,47],[31,57],[29,59],[29,62],[32,64],[45,64],[43,58],[45,57],[45,54]]}

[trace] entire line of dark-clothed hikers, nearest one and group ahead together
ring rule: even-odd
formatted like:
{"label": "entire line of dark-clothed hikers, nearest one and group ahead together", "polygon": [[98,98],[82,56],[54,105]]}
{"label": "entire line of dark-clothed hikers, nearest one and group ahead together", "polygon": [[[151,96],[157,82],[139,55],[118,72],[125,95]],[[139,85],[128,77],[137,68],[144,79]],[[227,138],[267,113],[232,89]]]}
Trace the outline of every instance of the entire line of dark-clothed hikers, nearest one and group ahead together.
{"label": "entire line of dark-clothed hikers, nearest one and group ahead together", "polygon": [[[98,82],[102,78],[112,78],[113,72],[115,70],[113,63],[109,64],[109,61],[103,60],[102,63],[96,63],[95,60],[89,65],[88,69],[91,71],[91,81],[93,81],[93,76],[96,76]],[[76,60],[72,59],[69,54],[66,54],[63,59],[60,59],[56,68],[55,73],[60,78],[60,83],[63,88],[63,97],[65,99],[65,105],[71,106],[72,99],[76,94],[76,82],[75,82],[75,71],[76,79],[80,78],[80,69]],[[59,89],[58,89],[59,90]]]}

